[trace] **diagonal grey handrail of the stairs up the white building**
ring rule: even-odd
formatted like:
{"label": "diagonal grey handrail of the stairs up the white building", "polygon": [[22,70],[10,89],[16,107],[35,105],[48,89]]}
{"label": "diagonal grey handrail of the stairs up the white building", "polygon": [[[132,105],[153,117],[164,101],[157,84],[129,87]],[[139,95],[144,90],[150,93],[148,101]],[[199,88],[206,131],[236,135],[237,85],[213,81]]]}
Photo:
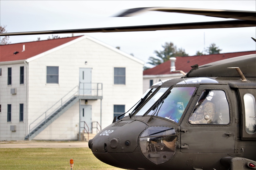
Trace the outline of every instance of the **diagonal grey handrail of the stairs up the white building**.
{"label": "diagonal grey handrail of the stairs up the white building", "polygon": [[[45,123],[46,123],[46,119],[47,119],[49,116],[51,116],[53,113],[55,113],[56,110],[58,110],[58,109],[60,109],[60,108],[61,108],[61,110],[62,110],[63,103],[66,103],[66,102],[67,102],[69,99],[71,99],[76,93],[78,94],[78,90],[79,90],[79,89],[77,89],[77,91],[76,91],[75,93],[73,93],[73,94],[71,95],[71,97],[69,97],[65,102],[62,101],[62,99],[65,98],[69,93],[71,93],[75,88],[78,88],[78,86],[75,86],[74,88],[72,88],[72,90],[70,90],[66,95],[64,95],[60,100],[58,100],[58,101],[57,101],[54,105],[52,105],[48,110],[46,110],[43,114],[41,114],[40,116],[38,116],[37,119],[35,119],[32,123],[29,124],[29,139],[30,139],[30,126],[31,126],[35,121],[37,121],[40,117],[42,117],[42,115],[45,114],[45,119],[42,120],[42,121],[40,121],[37,125],[35,125],[35,127],[33,127],[33,130],[34,130],[34,129],[35,129],[38,125],[40,125],[42,122],[45,121]],[[57,107],[57,109],[55,109],[55,110],[52,112],[52,114],[46,116],[46,112],[49,111],[51,108],[53,108],[53,107],[54,107],[57,103],[59,103],[60,101],[61,101],[61,105],[60,105],[59,107]],[[31,131],[33,131],[33,130],[31,129]]]}

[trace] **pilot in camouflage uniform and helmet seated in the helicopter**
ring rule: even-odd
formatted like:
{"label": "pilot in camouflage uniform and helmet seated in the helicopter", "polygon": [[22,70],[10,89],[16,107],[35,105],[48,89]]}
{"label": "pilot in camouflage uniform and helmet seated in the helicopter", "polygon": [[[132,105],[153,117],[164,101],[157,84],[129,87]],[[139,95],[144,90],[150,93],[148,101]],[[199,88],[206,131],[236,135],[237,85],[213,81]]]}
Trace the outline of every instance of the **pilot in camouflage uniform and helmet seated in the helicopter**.
{"label": "pilot in camouflage uniform and helmet seated in the helicopter", "polygon": [[[211,95],[207,97],[211,97]],[[215,104],[207,100],[207,98],[201,98],[189,118],[189,122],[191,124],[213,124],[214,116]]]}

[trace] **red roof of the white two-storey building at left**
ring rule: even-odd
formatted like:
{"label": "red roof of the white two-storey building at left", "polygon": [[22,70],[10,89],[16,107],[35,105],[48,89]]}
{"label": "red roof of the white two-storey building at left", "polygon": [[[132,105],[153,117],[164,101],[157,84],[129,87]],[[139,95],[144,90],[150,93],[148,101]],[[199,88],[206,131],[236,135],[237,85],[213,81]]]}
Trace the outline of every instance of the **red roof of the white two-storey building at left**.
{"label": "red roof of the white two-storey building at left", "polygon": [[[2,62],[2,61],[25,60],[30,57],[36,56],[38,54],[44,53],[45,51],[48,51],[52,48],[55,48],[62,44],[70,42],[79,37],[81,37],[81,36],[1,45],[0,46],[0,61]],[[25,51],[22,52],[23,45],[25,45]],[[14,55],[14,53],[16,51],[19,53]]]}

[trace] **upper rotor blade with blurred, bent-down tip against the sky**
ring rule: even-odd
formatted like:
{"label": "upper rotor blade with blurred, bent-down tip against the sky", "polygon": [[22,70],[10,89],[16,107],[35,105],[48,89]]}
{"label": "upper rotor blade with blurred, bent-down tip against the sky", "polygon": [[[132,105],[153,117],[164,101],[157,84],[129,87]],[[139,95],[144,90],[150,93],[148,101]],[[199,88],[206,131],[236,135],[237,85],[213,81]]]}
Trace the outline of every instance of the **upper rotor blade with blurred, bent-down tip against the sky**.
{"label": "upper rotor blade with blurred, bent-down tip against the sky", "polygon": [[170,8],[170,7],[146,7],[132,8],[119,14],[117,17],[130,17],[146,11],[176,12],[183,14],[204,15],[208,17],[256,20],[255,11],[221,10],[221,9],[198,9],[198,8]]}

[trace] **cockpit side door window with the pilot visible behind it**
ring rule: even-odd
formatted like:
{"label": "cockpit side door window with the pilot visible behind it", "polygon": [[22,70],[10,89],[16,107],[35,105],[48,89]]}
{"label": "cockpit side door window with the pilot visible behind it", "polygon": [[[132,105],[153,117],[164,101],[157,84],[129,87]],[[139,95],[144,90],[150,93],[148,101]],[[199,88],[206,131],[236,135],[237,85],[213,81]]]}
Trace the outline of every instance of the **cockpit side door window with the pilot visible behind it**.
{"label": "cockpit side door window with the pilot visible behind it", "polygon": [[204,90],[189,118],[191,124],[223,124],[230,122],[229,104],[223,90]]}

